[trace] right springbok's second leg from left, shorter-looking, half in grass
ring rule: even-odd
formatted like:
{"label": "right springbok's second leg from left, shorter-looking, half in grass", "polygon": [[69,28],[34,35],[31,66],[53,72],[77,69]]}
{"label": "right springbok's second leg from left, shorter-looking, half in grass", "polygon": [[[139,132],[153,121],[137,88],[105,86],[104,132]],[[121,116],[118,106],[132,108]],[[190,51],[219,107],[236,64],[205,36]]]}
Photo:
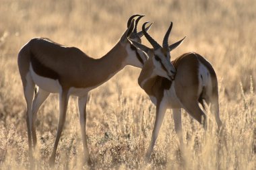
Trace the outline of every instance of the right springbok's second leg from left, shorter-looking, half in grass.
{"label": "right springbok's second leg from left, shorter-looking, half in grass", "polygon": [[181,122],[181,109],[172,109],[172,115],[174,120],[174,129],[179,138],[180,147],[183,148],[183,132]]}

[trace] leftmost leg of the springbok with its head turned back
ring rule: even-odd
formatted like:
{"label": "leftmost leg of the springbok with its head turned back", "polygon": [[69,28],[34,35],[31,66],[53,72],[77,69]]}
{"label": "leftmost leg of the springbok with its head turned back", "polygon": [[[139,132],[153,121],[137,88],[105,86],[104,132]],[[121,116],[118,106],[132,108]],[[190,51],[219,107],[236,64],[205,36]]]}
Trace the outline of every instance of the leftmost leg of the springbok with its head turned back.
{"label": "leftmost leg of the springbok with its head turned back", "polygon": [[167,104],[164,101],[157,101],[156,104],[156,120],[154,124],[154,130],[151,136],[150,146],[148,147],[148,151],[146,153],[146,161],[150,160],[150,155],[153,151],[154,144],[156,142],[156,138],[158,138],[159,130],[162,125],[162,121],[164,120],[164,114],[166,112]]}

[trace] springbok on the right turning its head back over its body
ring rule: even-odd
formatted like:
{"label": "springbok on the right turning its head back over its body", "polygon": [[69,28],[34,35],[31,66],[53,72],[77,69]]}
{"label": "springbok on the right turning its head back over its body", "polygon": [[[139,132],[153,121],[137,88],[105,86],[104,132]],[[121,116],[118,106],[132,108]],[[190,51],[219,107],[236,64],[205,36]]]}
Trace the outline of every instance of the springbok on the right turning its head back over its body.
{"label": "springbok on the right turning its head back over its body", "polygon": [[[144,35],[147,36],[147,34]],[[170,60],[170,51],[177,48],[184,39],[170,46],[168,46],[168,43],[164,39],[163,48],[155,44],[153,49],[131,40],[134,46],[148,54],[148,60],[143,65],[138,83],[156,105],[156,120],[150,146],[146,153],[147,161],[150,159],[160,131],[160,126],[164,119],[164,114],[168,108],[172,109],[174,129],[178,135],[181,148],[184,145],[181,108],[185,109],[195,120],[203,124],[204,128],[206,128],[206,116],[201,108],[199,108],[199,103],[201,103],[203,109],[205,109],[203,100],[207,105],[211,103],[210,110],[215,115],[218,130],[222,126],[219,116],[218,81],[216,73],[210,62],[205,60],[203,56],[195,52],[189,52],[173,60],[172,68],[174,72],[172,77],[174,78],[171,80],[160,77],[158,74],[156,60],[159,60],[160,56],[165,56]]]}

